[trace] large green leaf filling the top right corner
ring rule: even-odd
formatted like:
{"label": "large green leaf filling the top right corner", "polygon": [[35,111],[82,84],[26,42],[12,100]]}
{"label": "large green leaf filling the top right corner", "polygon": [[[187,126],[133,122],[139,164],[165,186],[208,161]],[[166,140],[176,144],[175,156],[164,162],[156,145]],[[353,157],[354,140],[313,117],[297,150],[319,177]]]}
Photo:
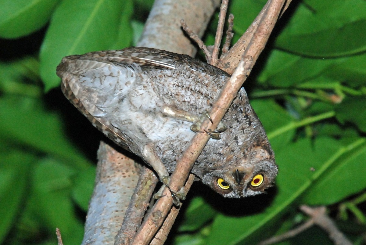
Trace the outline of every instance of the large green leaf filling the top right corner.
{"label": "large green leaf filling the top right corner", "polygon": [[365,25],[365,1],[308,1],[299,5],[275,45],[305,56],[352,55],[366,50]]}

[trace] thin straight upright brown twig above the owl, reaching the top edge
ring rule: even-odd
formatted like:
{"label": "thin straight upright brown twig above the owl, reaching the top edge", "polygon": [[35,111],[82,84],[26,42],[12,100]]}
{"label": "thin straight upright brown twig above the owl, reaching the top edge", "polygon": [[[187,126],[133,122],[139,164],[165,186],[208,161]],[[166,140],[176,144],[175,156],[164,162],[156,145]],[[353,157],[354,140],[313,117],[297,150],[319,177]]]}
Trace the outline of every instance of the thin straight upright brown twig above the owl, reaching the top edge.
{"label": "thin straight upright brown twig above the owl, reaching the top edge", "polygon": [[220,7],[219,23],[217,23],[215,42],[212,49],[211,59],[208,60],[208,63],[213,66],[217,66],[217,63],[219,62],[220,44],[223,38],[226,12],[228,10],[228,1],[229,0],[223,0]]}

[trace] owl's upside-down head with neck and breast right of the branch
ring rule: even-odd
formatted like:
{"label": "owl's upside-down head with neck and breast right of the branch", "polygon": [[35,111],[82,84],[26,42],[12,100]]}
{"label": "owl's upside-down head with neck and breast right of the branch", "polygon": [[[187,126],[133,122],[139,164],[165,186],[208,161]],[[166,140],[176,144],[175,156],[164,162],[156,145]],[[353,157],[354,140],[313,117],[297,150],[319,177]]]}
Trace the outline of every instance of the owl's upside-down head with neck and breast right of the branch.
{"label": "owl's upside-down head with neck and breast right of the branch", "polygon": [[208,167],[202,168],[198,176],[224,197],[264,193],[273,185],[278,167],[244,89],[239,91],[222,122],[227,130],[221,133],[221,140],[211,139],[203,149],[198,160]]}

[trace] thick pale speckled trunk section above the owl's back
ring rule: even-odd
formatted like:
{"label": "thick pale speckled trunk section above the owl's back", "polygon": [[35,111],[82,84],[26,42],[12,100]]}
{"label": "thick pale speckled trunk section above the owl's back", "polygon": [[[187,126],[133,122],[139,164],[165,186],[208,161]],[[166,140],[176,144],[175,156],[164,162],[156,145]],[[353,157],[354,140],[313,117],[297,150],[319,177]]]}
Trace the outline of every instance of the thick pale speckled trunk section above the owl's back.
{"label": "thick pale speckled trunk section above the owl's back", "polygon": [[201,37],[220,2],[220,0],[155,1],[138,46],[194,56],[197,50],[191,45],[192,41],[183,35],[180,20],[184,19],[188,27]]}

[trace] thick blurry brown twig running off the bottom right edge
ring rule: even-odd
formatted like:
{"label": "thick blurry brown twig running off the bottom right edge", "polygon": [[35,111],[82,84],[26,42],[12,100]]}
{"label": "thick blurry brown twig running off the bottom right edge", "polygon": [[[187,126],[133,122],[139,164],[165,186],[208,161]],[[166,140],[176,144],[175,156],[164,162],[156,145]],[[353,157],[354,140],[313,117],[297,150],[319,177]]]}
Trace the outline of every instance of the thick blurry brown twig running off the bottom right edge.
{"label": "thick blurry brown twig running off the bottom right edge", "polygon": [[338,230],[333,220],[326,215],[326,208],[324,206],[311,208],[309,206],[302,205],[300,206],[300,210],[311,216],[314,224],[326,231],[326,233],[329,234],[330,240],[332,240],[336,245],[352,245],[352,242],[350,242],[346,236]]}

